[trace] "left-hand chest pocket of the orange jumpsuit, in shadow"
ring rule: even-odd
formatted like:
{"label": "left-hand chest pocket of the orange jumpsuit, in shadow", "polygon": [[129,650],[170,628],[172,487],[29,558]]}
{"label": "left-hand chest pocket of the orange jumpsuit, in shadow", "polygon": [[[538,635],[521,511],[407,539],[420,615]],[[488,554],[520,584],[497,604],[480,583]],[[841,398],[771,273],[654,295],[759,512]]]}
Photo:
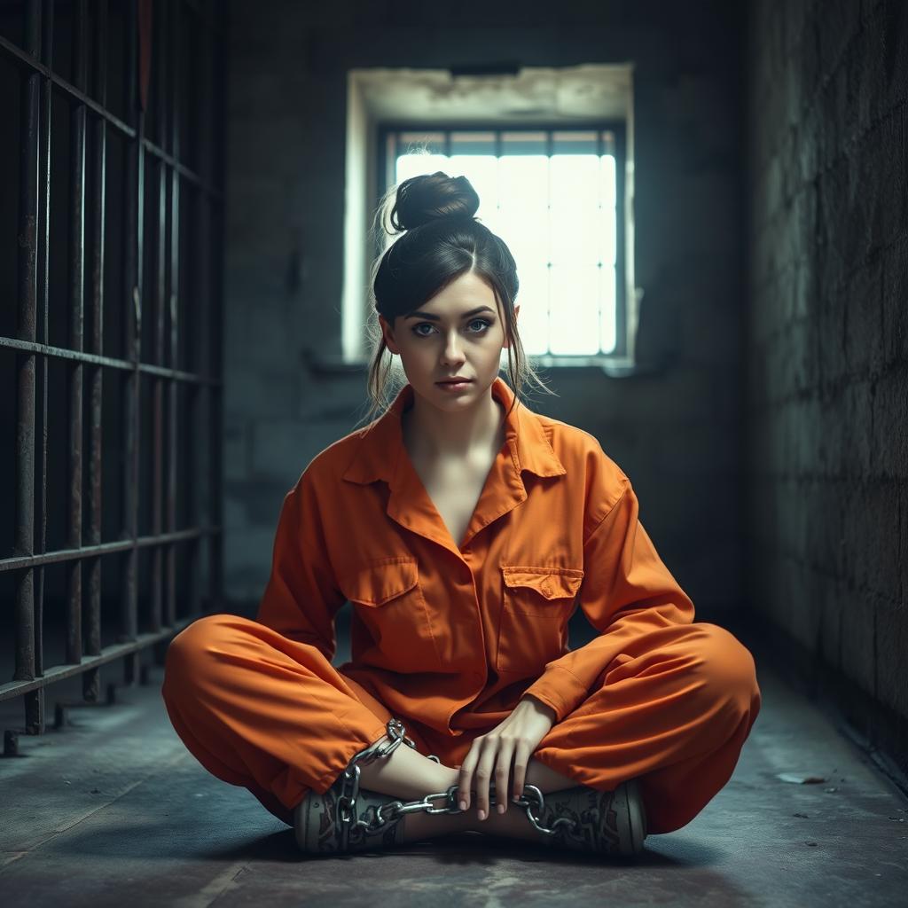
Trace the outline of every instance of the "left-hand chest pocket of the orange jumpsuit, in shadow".
{"label": "left-hand chest pocket of the orange jumpsuit, in shadow", "polygon": [[410,673],[441,666],[416,558],[381,558],[338,577],[353,607],[350,656],[356,664]]}

